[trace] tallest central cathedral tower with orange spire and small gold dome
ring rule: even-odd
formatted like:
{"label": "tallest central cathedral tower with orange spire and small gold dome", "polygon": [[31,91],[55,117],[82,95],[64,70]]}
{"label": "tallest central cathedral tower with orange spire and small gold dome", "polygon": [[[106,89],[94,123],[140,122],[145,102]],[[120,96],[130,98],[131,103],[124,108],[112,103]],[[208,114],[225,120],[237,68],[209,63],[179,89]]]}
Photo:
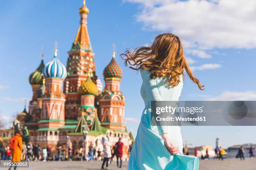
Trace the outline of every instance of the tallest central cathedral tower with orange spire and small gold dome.
{"label": "tallest central cathedral tower with orange spire and small gold dome", "polygon": [[[71,50],[68,52],[67,61],[67,79],[64,82],[66,93],[66,116],[69,119],[77,119],[78,108],[81,103],[78,93],[79,87],[87,80],[88,71],[95,73],[94,53],[87,31],[88,8],[85,6],[85,0],[79,9],[80,26],[75,37]],[[93,77],[93,76],[92,76]]]}

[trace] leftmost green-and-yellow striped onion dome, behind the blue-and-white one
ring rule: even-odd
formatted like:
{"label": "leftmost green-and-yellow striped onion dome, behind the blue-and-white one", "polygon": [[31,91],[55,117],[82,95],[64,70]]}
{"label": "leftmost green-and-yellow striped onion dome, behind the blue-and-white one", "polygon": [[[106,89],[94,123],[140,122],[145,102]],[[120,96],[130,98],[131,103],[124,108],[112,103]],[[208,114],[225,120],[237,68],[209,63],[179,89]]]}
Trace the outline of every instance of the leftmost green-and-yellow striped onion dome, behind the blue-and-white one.
{"label": "leftmost green-and-yellow striped onion dome, behind the blue-and-white one", "polygon": [[37,69],[31,73],[28,80],[31,85],[41,85],[44,75],[43,75],[43,69],[44,69],[44,55],[42,54],[42,60],[40,65],[37,67]]}

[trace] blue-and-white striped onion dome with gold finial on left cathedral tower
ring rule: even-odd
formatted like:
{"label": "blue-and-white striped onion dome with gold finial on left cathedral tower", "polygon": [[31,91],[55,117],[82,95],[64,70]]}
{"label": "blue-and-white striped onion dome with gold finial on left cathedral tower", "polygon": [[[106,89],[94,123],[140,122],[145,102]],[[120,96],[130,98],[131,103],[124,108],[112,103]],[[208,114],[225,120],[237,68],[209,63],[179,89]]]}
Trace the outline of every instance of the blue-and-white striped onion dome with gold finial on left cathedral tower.
{"label": "blue-and-white striped onion dome with gold finial on left cathedral tower", "polygon": [[64,80],[67,77],[66,67],[57,58],[57,50],[53,59],[45,65],[43,73],[46,78],[55,77]]}

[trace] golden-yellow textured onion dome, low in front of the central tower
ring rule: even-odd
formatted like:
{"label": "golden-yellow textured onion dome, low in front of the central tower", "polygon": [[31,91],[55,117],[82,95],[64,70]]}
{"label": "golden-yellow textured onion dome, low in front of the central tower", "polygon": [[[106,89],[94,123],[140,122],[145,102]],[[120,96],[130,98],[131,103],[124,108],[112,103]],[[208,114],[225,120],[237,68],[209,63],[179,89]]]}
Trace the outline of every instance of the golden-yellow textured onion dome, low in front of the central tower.
{"label": "golden-yellow textured onion dome, low in front of the central tower", "polygon": [[81,95],[98,95],[98,89],[90,77],[90,72],[88,72],[87,80],[82,83],[79,87],[78,92]]}

